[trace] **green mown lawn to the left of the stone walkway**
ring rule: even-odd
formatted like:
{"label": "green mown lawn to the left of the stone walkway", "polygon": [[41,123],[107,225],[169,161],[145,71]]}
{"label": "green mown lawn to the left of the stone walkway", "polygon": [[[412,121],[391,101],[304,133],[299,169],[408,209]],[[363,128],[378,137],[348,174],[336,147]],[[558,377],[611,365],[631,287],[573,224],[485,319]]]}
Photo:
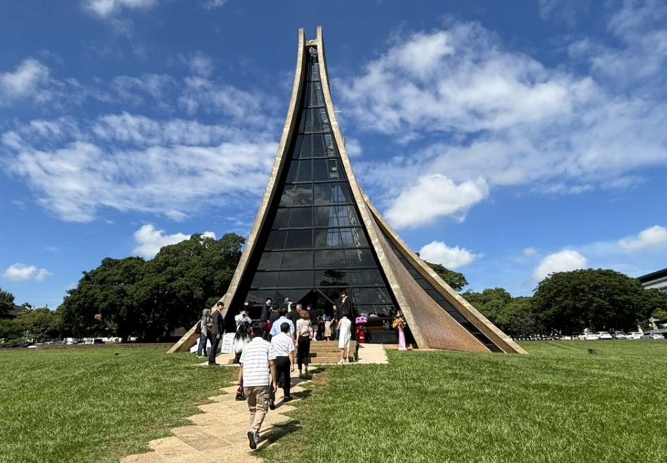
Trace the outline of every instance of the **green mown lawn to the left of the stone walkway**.
{"label": "green mown lawn to the left of the stone walkway", "polygon": [[195,363],[164,348],[0,351],[0,462],[149,450],[235,373]]}

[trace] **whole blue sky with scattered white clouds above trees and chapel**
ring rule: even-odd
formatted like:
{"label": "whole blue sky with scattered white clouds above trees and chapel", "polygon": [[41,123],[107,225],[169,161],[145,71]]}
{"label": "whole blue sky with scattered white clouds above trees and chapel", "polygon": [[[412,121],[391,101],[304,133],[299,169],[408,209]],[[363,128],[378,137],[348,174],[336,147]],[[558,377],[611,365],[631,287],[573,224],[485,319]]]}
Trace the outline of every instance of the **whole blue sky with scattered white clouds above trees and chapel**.
{"label": "whole blue sky with scattered white clouds above trees and chapel", "polygon": [[0,287],[57,307],[104,257],[247,235],[299,27],[324,26],[363,188],[469,289],[667,266],[661,1],[5,1]]}

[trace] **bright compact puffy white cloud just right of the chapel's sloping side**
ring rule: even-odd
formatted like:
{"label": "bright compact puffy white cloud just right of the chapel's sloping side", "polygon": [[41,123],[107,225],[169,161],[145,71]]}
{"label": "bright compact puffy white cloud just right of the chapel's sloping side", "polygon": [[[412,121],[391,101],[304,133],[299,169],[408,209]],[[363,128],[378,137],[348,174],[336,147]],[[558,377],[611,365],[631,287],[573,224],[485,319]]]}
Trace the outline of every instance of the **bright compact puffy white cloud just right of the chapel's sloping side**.
{"label": "bright compact puffy white cloud just right of the chapel's sloping side", "polygon": [[425,175],[396,198],[386,218],[397,228],[419,227],[442,216],[461,216],[486,197],[488,186],[484,179],[457,185],[442,174]]}

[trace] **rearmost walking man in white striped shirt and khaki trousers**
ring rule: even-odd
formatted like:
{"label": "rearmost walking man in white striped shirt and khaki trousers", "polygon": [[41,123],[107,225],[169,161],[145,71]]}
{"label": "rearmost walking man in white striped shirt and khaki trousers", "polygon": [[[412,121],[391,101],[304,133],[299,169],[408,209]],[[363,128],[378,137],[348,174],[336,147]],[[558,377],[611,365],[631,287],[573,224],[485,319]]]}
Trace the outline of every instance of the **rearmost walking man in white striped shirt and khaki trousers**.
{"label": "rearmost walking man in white striped shirt and khaki trousers", "polygon": [[268,412],[270,393],[277,390],[276,354],[270,343],[262,336],[264,326],[255,322],[251,328],[250,341],[241,354],[238,370],[238,384],[243,385],[243,393],[247,398],[250,412],[250,429],[247,432],[250,448],[259,444],[259,430]]}

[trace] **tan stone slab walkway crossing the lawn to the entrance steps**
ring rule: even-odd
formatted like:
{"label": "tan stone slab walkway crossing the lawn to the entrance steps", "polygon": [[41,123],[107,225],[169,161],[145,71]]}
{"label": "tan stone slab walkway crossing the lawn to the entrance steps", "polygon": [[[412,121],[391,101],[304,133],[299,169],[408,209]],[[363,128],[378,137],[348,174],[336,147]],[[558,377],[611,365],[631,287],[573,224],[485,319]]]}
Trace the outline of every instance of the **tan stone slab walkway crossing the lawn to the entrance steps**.
{"label": "tan stone slab walkway crossing the lawn to the entrance steps", "polygon": [[[316,373],[313,369],[311,372]],[[308,394],[301,384],[293,379],[291,393],[293,402]],[[153,451],[123,457],[121,463],[257,463],[263,460],[253,455],[248,446],[248,407],[245,401],[234,400],[236,386],[224,387],[224,393],[211,397],[211,403],[199,405],[201,414],[188,418],[192,425],[172,429],[171,437],[149,442]],[[279,402],[275,410],[269,410],[262,425],[258,449],[269,446],[284,434],[299,428],[299,424],[283,413],[295,407],[282,402],[282,390],[277,393]]]}

